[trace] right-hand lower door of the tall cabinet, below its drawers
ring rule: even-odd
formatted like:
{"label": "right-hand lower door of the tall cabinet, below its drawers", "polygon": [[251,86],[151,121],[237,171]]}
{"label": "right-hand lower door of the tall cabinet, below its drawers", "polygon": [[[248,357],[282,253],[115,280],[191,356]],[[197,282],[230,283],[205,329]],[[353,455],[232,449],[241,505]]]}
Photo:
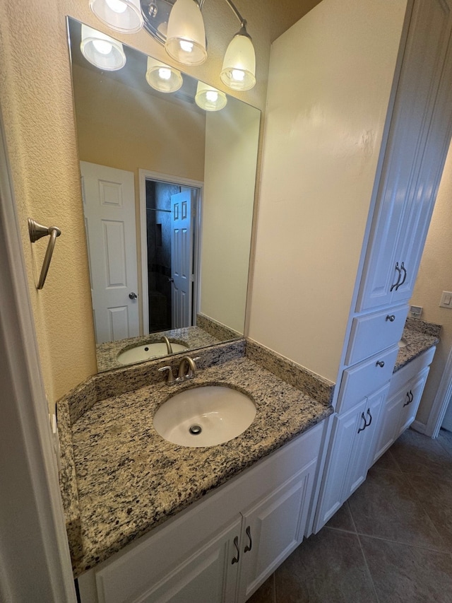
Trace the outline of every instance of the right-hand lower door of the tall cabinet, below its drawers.
{"label": "right-hand lower door of the tall cabinet, below its drawers", "polygon": [[[388,390],[389,383],[369,396],[364,406],[361,406],[355,415],[355,437],[352,442],[350,462],[345,473],[342,500],[347,500],[366,479],[374,439],[378,433],[380,411]],[[361,409],[362,411],[359,413]]]}

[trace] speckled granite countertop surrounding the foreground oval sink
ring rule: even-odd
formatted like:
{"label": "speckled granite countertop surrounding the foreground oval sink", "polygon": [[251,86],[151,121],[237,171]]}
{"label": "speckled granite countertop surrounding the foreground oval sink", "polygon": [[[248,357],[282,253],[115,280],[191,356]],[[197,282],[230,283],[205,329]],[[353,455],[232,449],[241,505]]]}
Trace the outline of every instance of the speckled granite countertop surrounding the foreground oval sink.
{"label": "speckled granite countertop surrounding the foreground oval sink", "polygon": [[[186,388],[230,385],[256,404],[251,426],[213,447],[182,447],[153,428],[165,400]],[[331,384],[333,385],[333,384]],[[175,515],[333,413],[249,358],[198,371],[181,385],[149,385],[96,402],[72,426],[81,547],[74,575]]]}

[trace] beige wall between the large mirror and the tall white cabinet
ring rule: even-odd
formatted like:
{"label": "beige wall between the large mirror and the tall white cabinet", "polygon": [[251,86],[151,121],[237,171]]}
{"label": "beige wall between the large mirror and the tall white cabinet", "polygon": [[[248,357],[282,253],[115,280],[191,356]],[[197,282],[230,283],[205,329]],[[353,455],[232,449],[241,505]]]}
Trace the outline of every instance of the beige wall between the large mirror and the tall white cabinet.
{"label": "beige wall between the large mirror and the tall white cabinet", "polygon": [[323,0],[273,43],[249,336],[335,381],[405,0]]}

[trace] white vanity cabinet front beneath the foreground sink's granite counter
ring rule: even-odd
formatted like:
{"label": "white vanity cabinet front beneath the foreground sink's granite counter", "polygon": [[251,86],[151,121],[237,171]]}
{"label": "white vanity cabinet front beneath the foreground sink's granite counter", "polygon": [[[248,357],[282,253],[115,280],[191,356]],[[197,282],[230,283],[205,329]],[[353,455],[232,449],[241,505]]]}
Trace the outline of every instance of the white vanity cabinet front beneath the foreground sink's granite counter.
{"label": "white vanity cabinet front beneath the foreground sink's granite counter", "polygon": [[81,575],[85,602],[244,602],[300,544],[323,425]]}

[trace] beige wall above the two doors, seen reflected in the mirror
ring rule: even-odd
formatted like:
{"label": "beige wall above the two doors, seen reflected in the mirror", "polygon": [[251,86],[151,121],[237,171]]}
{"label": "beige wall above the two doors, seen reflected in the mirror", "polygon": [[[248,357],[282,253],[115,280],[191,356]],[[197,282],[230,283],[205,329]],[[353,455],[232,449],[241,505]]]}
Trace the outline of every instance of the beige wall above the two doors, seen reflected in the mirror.
{"label": "beige wall above the two doors, seen reflected in the mirror", "polygon": [[206,116],[75,65],[78,151],[83,161],[135,172],[204,177]]}

